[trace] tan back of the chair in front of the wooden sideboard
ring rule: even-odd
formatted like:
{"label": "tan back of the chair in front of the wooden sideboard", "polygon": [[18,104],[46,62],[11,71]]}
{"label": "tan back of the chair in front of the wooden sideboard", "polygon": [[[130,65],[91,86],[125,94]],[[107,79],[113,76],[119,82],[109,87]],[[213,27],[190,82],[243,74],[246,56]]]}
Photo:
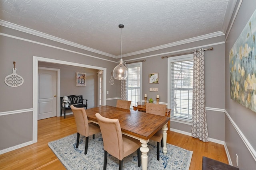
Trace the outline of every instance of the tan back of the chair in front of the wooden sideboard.
{"label": "tan back of the chair in front of the wooden sideboard", "polygon": [[155,115],[165,116],[166,113],[166,104],[153,104],[147,103],[146,113],[151,113]]}

